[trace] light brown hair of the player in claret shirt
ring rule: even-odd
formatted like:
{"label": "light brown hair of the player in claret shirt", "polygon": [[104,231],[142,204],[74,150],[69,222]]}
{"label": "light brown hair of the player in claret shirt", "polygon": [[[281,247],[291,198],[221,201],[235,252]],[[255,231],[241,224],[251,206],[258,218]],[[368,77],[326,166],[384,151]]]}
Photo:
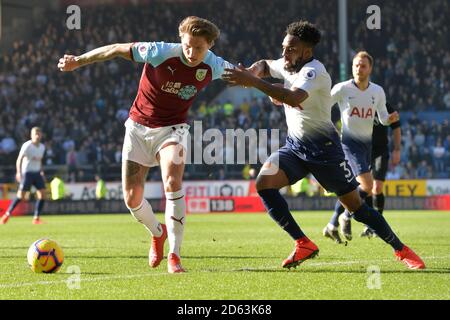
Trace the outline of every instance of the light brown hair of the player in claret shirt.
{"label": "light brown hair of the player in claret shirt", "polygon": [[220,30],[209,20],[189,16],[184,18],[178,26],[180,37],[184,33],[188,33],[195,37],[204,37],[208,43],[213,43],[220,36]]}

